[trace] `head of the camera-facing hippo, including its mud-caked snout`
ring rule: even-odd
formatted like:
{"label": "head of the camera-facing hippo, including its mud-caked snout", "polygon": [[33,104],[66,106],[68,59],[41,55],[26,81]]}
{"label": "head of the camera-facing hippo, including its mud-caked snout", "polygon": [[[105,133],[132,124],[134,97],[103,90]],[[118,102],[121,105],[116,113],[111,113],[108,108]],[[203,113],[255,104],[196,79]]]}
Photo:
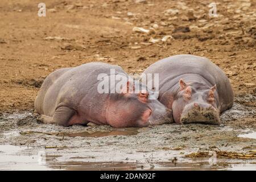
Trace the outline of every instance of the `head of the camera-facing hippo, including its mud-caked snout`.
{"label": "head of the camera-facing hippo, including its mud-caked snout", "polygon": [[216,85],[179,81],[179,90],[172,104],[176,123],[220,125]]}

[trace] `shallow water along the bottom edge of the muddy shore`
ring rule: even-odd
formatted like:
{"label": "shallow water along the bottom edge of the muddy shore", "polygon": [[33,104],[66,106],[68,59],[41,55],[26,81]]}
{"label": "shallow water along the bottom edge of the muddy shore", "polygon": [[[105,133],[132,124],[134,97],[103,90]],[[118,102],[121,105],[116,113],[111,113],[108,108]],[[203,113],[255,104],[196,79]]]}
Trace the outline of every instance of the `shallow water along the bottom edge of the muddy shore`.
{"label": "shallow water along the bottom edge of the muddy shore", "polygon": [[208,158],[177,157],[169,162],[100,162],[85,153],[47,155],[46,151],[39,151],[32,155],[26,152],[27,148],[0,145],[0,170],[256,170],[255,160],[218,159],[210,163]]}

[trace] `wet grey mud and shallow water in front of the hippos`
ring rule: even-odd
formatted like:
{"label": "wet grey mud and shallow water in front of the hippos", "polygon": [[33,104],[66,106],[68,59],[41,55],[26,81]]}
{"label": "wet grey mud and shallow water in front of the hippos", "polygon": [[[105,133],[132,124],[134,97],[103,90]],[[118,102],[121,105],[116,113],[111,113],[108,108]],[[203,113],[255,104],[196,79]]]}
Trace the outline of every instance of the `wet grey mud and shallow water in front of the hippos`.
{"label": "wet grey mud and shallow water in front of the hippos", "polygon": [[30,111],[5,113],[0,169],[256,169],[255,97],[236,100],[243,104],[225,111],[220,126],[63,127],[40,123]]}

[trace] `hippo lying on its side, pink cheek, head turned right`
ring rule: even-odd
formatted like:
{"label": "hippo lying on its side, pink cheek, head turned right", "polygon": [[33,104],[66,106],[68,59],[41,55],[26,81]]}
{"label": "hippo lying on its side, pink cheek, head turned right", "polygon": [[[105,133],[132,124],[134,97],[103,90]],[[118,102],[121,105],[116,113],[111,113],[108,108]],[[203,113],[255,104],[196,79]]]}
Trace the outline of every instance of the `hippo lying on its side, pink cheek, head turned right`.
{"label": "hippo lying on its side, pink cheek, head turned right", "polygon": [[[127,81],[121,93],[99,93],[98,84],[115,75],[128,78],[123,69],[106,63],[87,63],[75,68],[61,68],[49,74],[44,80],[35,100],[35,112],[41,114],[39,121],[63,126],[86,125],[89,122],[113,127],[144,127],[172,122],[171,111],[157,98],[148,100],[152,94],[140,82]],[[100,73],[106,76],[98,80]],[[134,93],[135,85],[141,85],[143,92]]]}

